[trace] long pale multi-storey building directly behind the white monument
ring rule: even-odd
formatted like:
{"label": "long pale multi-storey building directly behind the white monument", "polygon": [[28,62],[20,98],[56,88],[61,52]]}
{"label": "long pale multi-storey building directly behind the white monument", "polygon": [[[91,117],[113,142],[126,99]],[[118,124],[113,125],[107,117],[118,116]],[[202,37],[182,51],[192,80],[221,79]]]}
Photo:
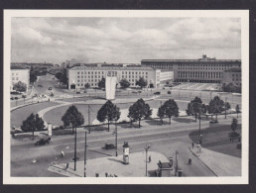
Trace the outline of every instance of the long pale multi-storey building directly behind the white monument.
{"label": "long pale multi-storey building directly behind the white monument", "polygon": [[141,66],[118,66],[118,65],[80,65],[67,69],[68,89],[81,89],[84,84],[90,87],[98,87],[98,82],[107,74],[113,73],[119,82],[126,79],[131,87],[136,86],[136,81],[143,77],[148,82],[148,87],[159,87],[161,81],[161,70],[152,67]]}

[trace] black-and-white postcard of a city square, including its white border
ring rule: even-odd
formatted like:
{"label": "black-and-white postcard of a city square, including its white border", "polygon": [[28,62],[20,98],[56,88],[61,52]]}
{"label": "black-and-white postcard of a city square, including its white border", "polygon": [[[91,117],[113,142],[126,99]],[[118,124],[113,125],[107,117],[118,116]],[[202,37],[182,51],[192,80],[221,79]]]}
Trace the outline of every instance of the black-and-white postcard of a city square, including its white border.
{"label": "black-and-white postcard of a city square, including its white border", "polygon": [[247,184],[248,10],[5,10],[6,184]]}

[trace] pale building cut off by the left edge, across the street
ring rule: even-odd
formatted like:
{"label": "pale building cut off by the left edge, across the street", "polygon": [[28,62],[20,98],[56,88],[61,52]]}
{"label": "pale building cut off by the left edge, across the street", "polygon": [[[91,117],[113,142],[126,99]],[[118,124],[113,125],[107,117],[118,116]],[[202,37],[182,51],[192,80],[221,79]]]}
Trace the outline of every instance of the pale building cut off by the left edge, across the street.
{"label": "pale building cut off by the left edge, across the street", "polygon": [[13,90],[13,85],[17,82],[23,82],[27,85],[27,91],[30,86],[30,69],[22,67],[11,67],[11,90]]}

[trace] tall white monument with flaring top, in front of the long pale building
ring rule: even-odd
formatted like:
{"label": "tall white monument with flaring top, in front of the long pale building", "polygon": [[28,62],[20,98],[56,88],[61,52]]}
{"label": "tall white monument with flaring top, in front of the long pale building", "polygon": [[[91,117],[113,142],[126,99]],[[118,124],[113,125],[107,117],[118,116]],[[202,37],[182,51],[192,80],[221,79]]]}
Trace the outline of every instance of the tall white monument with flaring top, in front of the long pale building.
{"label": "tall white monument with flaring top, in front of the long pale building", "polygon": [[108,71],[106,75],[106,82],[105,82],[107,100],[115,99],[116,84],[117,84],[117,71]]}

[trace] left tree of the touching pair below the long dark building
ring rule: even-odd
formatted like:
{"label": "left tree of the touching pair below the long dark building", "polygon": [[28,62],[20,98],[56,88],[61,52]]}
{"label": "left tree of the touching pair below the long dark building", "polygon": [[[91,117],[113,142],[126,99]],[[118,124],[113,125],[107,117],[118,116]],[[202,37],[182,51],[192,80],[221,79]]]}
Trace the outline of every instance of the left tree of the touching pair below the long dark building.
{"label": "left tree of the touching pair below the long dark building", "polygon": [[195,97],[189,104],[188,109],[186,110],[187,114],[195,117],[195,122],[197,120],[198,115],[201,113],[206,113],[205,105],[202,104],[201,99],[199,97]]}

